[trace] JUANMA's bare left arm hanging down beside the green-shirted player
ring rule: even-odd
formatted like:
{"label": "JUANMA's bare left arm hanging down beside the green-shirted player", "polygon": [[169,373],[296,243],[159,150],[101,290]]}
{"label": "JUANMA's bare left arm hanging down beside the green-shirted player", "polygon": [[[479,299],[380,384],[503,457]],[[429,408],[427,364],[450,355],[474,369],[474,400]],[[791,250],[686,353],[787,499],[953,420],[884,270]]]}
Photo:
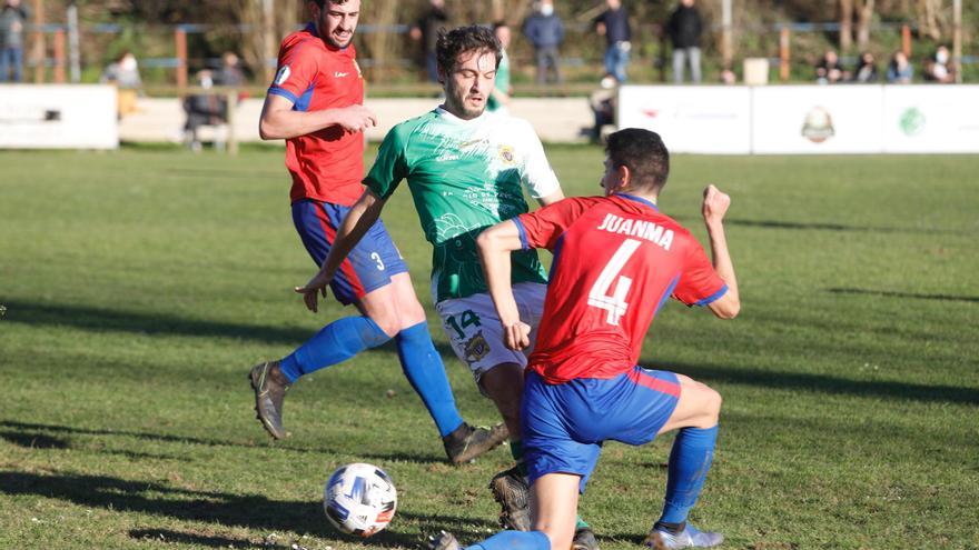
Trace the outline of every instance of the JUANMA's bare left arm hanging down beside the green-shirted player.
{"label": "JUANMA's bare left arm hanging down beside the green-shirted player", "polygon": [[523,248],[516,223],[507,220],[486,229],[476,238],[476,248],[490,296],[503,326],[504,344],[512,350],[522,350],[531,344],[531,327],[520,320],[510,279],[510,253]]}

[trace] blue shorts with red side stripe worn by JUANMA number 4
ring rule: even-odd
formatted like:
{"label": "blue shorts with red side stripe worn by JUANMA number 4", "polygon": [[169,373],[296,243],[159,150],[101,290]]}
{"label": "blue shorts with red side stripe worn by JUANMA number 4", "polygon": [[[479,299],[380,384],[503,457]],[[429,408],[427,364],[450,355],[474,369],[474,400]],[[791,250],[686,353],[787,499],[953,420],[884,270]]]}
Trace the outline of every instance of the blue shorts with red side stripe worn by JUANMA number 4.
{"label": "blue shorts with red side stripe worn by JUANMA number 4", "polygon": [[680,400],[676,374],[633,367],[603,380],[548,384],[527,371],[521,403],[531,484],[547,473],[581,476],[581,492],[607,440],[641,446],[656,438]]}

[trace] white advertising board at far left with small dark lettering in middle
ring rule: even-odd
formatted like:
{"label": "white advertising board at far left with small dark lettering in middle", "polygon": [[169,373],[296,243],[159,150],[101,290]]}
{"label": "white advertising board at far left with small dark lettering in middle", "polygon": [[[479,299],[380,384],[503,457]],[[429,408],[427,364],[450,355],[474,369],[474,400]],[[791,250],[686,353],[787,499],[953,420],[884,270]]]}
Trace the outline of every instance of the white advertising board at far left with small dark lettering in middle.
{"label": "white advertising board at far left with small dark lettering in middle", "polygon": [[111,86],[0,86],[0,149],[116,149]]}

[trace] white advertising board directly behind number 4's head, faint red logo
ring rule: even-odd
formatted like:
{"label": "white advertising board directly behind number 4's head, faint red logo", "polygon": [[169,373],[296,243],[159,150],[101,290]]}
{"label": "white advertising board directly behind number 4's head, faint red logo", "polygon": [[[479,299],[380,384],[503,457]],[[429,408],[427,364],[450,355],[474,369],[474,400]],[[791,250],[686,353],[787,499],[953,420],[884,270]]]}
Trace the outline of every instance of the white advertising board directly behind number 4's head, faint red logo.
{"label": "white advertising board directly behind number 4's head, faint red logo", "polygon": [[659,133],[671,152],[751,152],[751,88],[623,86],[619,128]]}

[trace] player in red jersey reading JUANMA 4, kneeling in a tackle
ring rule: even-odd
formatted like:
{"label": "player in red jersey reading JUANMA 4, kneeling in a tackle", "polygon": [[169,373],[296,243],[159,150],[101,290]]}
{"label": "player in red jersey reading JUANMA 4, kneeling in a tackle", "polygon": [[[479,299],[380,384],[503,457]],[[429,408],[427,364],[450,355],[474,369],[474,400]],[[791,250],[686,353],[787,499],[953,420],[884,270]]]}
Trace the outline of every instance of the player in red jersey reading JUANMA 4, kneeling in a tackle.
{"label": "player in red jersey reading JUANMA 4, kneeling in a tackle", "polygon": [[[507,347],[528,346],[510,287],[510,254],[554,252],[544,318],[527,364],[521,428],[534,531],[503,531],[474,550],[571,546],[578,493],[604,441],[640,446],[680,430],[670,453],[663,514],[646,539],[656,548],[705,548],[720,533],[686,523],[713,457],[721,396],[683,374],[636,366],[643,338],[671,296],[722,319],[740,310],[723,217],[730,198],[709,186],[702,213],[713,263],[680,223],[660,212],[670,157],[660,137],[626,129],[609,137],[605,197],[571,198],[481,233],[477,243]],[[458,548],[451,534],[433,548]]]}

